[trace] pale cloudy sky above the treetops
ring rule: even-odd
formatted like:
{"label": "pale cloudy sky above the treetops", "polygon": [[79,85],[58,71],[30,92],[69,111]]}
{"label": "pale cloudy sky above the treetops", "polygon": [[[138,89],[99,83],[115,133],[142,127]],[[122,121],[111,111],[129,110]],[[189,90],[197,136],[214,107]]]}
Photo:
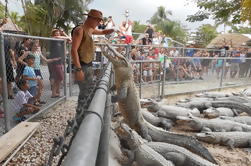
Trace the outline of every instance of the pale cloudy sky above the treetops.
{"label": "pale cloudy sky above the treetops", "polygon": [[202,24],[213,24],[212,20],[190,23],[186,21],[187,15],[192,15],[198,11],[195,3],[188,0],[94,0],[89,8],[99,9],[104,16],[112,15],[117,24],[120,24],[125,17],[122,15],[126,9],[130,11],[130,19],[146,23],[157,10],[157,7],[164,6],[166,10],[171,10],[172,20],[180,21],[188,29],[195,30]]}

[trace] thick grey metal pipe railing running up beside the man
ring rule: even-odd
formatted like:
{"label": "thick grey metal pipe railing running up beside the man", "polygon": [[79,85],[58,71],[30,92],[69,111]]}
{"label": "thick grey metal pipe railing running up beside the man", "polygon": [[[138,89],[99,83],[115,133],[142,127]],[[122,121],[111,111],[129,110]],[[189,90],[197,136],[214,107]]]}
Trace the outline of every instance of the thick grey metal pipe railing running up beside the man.
{"label": "thick grey metal pipe railing running up beside the man", "polygon": [[[111,73],[111,64],[106,73]],[[101,80],[109,82],[110,75],[105,74]],[[86,116],[82,121],[79,130],[73,139],[70,150],[65,157],[63,166],[95,166],[100,133],[102,129],[105,99],[107,96],[108,84],[98,86],[93,100],[90,103]]]}

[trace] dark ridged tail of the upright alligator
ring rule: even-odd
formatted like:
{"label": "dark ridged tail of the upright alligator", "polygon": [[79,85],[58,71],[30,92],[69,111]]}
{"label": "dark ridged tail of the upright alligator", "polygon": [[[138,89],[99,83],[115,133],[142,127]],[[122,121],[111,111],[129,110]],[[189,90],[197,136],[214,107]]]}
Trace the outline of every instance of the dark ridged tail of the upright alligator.
{"label": "dark ridged tail of the upright alligator", "polygon": [[197,139],[191,136],[165,131],[161,128],[151,125],[148,122],[146,122],[146,125],[148,128],[148,134],[151,136],[153,141],[166,142],[166,143],[181,146],[203,157],[204,159],[214,164],[217,164],[216,160],[213,158],[213,156],[208,151],[208,149],[205,148]]}

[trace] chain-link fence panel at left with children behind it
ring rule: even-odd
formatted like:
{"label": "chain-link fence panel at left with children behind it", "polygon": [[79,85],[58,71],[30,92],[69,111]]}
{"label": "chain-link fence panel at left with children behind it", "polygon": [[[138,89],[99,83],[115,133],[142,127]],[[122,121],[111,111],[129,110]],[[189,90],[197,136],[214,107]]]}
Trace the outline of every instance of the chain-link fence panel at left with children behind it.
{"label": "chain-link fence panel at left with children behind it", "polygon": [[2,33],[1,132],[66,97],[66,42]]}

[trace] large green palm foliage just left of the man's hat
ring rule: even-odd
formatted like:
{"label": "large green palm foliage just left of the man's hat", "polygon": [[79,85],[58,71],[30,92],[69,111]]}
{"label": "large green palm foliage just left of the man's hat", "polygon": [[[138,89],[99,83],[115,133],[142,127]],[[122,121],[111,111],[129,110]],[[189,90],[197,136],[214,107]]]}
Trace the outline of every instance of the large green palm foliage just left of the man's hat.
{"label": "large green palm foliage just left of the man's hat", "polygon": [[71,29],[83,18],[86,5],[92,0],[21,0],[24,9],[23,29],[29,34],[48,36],[54,27]]}

